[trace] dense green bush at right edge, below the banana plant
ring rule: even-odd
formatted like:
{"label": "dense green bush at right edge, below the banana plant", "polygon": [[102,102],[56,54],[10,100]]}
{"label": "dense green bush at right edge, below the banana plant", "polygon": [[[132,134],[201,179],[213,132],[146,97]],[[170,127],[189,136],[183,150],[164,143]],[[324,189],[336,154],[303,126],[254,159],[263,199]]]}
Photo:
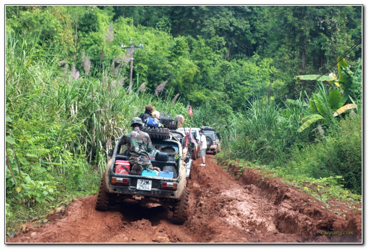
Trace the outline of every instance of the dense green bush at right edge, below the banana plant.
{"label": "dense green bush at right edge, below the banana plant", "polygon": [[342,176],[343,185],[355,194],[362,192],[362,125],[358,114],[342,119],[338,130],[330,131],[323,142],[300,151],[295,147],[289,168],[297,174],[320,178]]}

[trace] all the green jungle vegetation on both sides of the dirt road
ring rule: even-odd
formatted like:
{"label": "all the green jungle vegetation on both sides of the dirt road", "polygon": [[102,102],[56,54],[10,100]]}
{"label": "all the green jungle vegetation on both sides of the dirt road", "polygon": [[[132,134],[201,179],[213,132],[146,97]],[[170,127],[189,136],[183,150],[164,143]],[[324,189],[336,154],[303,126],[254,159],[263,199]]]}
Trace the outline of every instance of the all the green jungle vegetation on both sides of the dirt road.
{"label": "all the green jungle vegetation on both sides of the dirt road", "polygon": [[[363,103],[361,51],[346,56],[350,66],[339,62],[339,79],[326,78],[331,87],[319,84],[315,91],[313,83],[293,78],[327,68],[362,38],[359,6],[5,11],[8,232],[50,207],[95,194],[106,151],[147,104],[183,114],[185,126],[216,128],[225,150],[218,157],[269,164],[320,185],[341,175],[338,184],[360,193],[361,114],[349,113]],[[144,49],[122,49],[130,41]],[[323,118],[308,119],[318,115]]]}

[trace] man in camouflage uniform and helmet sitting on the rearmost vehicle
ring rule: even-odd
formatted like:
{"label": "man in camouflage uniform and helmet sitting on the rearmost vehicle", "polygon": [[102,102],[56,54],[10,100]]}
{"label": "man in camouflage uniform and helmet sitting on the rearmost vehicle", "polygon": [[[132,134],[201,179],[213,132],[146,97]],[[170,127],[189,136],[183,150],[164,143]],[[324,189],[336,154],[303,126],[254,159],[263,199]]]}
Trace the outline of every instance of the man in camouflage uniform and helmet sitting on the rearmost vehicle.
{"label": "man in camouflage uniform and helmet sitting on the rearmost vehicle", "polygon": [[119,144],[128,144],[129,158],[132,165],[131,175],[141,175],[143,169],[153,169],[148,153],[152,152],[152,142],[150,136],[140,129],[143,125],[139,117],[131,120],[133,131],[119,138]]}

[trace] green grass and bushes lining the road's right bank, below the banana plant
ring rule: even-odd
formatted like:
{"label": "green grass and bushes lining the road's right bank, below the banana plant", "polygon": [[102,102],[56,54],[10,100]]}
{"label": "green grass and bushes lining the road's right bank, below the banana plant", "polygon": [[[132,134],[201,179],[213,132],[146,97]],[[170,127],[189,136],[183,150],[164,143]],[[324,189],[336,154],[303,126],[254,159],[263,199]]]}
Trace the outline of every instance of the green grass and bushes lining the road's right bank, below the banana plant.
{"label": "green grass and bushes lining the road's right bank, below the banana plant", "polygon": [[325,131],[317,128],[298,133],[302,114],[310,105],[301,96],[285,104],[281,109],[263,100],[252,102],[250,109],[225,129],[222,157],[273,167],[279,176],[292,181],[336,177],[342,179],[343,187],[361,194],[361,114],[351,111],[340,121],[327,117],[329,128]]}

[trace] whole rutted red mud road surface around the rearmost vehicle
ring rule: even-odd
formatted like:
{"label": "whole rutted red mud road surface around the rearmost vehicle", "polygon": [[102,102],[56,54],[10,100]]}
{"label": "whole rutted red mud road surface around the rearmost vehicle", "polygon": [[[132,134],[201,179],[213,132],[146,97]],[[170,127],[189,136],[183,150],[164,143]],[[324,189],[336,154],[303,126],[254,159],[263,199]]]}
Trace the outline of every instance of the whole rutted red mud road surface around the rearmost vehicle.
{"label": "whole rutted red mud road surface around the rearmost vehicle", "polygon": [[[189,219],[171,223],[172,212],[158,205],[125,201],[107,212],[95,210],[97,194],[75,199],[50,223],[24,226],[6,243],[361,243],[361,205],[314,197],[277,178],[247,170],[237,179],[206,155],[193,161],[188,180]],[[236,173],[236,172],[235,172]],[[336,212],[336,214],[334,213]],[[345,212],[346,211],[346,212]],[[340,214],[340,215],[339,215]],[[345,214],[345,216],[343,216]],[[353,235],[322,235],[326,231]]]}

